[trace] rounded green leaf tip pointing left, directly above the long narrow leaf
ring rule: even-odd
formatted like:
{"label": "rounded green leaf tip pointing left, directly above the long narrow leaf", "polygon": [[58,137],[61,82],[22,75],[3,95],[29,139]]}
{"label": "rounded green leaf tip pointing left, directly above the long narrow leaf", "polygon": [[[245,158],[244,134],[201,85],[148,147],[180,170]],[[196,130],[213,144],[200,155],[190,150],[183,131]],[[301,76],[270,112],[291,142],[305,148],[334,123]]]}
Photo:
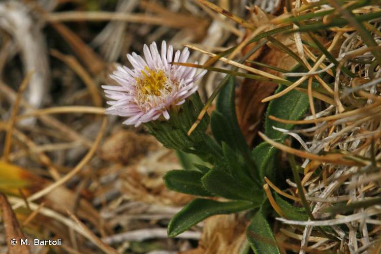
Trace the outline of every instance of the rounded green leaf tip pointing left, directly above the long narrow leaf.
{"label": "rounded green leaf tip pointing left, directly above the long narrow leaf", "polygon": [[193,170],[171,170],[164,176],[164,183],[167,188],[175,192],[196,195],[196,196],[213,196],[202,185],[201,178],[203,173]]}

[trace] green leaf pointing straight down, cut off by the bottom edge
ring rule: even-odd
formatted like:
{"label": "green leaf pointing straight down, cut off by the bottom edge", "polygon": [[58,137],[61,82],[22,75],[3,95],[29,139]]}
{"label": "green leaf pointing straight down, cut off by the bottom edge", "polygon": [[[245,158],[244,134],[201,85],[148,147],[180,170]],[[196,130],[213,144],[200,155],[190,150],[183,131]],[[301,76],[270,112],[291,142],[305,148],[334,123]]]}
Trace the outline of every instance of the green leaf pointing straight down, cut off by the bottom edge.
{"label": "green leaf pointing straight down, cut off by the bottom edge", "polygon": [[246,230],[247,239],[256,254],[280,254],[270,225],[259,210]]}

